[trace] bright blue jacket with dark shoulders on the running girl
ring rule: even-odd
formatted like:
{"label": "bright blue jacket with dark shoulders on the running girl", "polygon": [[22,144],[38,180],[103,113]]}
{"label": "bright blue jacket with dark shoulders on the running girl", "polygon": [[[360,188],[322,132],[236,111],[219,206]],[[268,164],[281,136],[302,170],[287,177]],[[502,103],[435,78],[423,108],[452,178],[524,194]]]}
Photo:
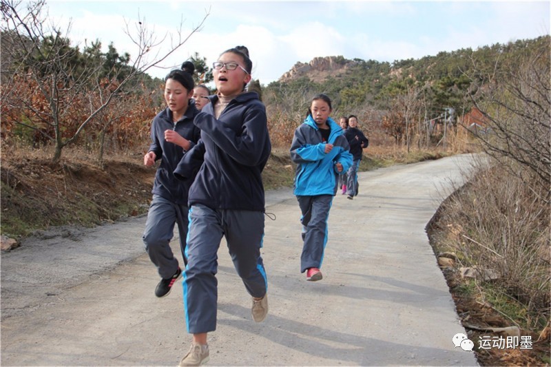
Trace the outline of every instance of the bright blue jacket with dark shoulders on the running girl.
{"label": "bright blue jacket with dark shoulders on the running girl", "polygon": [[296,196],[335,195],[339,175],[335,163],[342,164],[340,174],[344,174],[352,165],[349,143],[341,127],[332,118],[327,119],[327,124],[331,128],[327,143],[333,144],[328,154],[324,152],[326,143],[323,143],[322,134],[311,115],[295,130],[291,160],[297,163],[294,184]]}

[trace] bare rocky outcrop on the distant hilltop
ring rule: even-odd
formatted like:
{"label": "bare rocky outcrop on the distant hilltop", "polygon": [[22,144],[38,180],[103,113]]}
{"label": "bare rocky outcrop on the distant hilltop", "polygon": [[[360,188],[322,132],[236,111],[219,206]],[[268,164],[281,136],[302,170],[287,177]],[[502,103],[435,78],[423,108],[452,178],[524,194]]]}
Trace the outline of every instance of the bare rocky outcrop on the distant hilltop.
{"label": "bare rocky outcrop on the distant hilltop", "polygon": [[324,76],[335,74],[335,72],[346,70],[355,63],[355,61],[344,59],[343,56],[315,57],[309,63],[301,63],[300,61],[295,63],[291,70],[281,76],[280,81],[290,81],[301,76],[309,76],[315,79],[315,76],[320,73]]}

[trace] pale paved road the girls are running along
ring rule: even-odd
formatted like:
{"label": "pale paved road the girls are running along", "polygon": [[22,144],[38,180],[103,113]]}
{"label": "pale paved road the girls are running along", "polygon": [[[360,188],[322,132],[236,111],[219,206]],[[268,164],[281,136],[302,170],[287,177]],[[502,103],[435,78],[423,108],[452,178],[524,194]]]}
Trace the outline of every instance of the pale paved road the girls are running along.
{"label": "pale paved road the girls are running along", "polygon": [[[209,365],[475,366],[425,226],[470,156],[360,174],[338,194],[320,282],[299,273],[300,211],[290,189],[267,193],[262,256],[270,312],[251,300],[222,242],[218,328]],[[462,168],[461,168],[462,167]],[[2,366],[176,366],[189,348],[182,287],[154,296],[145,217],[29,238],[1,256]],[[54,234],[59,235],[54,235]],[[174,252],[177,241],[172,242]]]}

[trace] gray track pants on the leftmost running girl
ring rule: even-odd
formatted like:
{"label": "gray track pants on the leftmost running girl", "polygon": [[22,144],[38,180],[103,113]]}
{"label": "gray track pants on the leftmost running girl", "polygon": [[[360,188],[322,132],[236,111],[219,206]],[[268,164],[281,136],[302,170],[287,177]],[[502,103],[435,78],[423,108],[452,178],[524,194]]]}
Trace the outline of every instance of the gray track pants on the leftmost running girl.
{"label": "gray track pants on the leftmost running girl", "polygon": [[[178,224],[180,232],[180,251],[185,253],[187,238],[187,206],[176,205],[174,202],[154,195],[143,231],[143,243],[149,259],[157,266],[160,277],[168,279],[178,269],[178,260],[170,248],[170,241],[174,237],[174,224]],[[185,262],[185,259],[184,259]]]}

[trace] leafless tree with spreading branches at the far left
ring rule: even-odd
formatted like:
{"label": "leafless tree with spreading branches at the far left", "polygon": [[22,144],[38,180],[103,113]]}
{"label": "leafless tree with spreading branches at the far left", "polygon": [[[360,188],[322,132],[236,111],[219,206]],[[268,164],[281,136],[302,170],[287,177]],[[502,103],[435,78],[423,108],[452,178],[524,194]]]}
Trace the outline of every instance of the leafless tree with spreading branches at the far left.
{"label": "leafless tree with spreading branches at the far left", "polygon": [[[79,61],[78,49],[71,48],[61,30],[48,22],[44,0],[1,0],[0,8],[2,41],[8,42],[2,49],[10,52],[11,61],[8,70],[2,70],[3,112],[8,111],[15,123],[52,140],[54,162],[61,158],[63,147],[74,143],[100,112],[123,96],[127,85],[176,52],[209,15],[207,12],[187,36],[183,36],[182,21],[176,34],[167,32],[159,37],[138,14],[139,21],[134,25],[125,22],[124,31],[136,46],[136,56],[127,55],[123,67],[114,65],[105,74],[101,60],[95,64]],[[69,30],[70,26],[67,33]],[[170,47],[161,52],[160,45],[167,41]],[[31,89],[22,92],[21,83]],[[76,106],[86,107],[76,113]]]}

